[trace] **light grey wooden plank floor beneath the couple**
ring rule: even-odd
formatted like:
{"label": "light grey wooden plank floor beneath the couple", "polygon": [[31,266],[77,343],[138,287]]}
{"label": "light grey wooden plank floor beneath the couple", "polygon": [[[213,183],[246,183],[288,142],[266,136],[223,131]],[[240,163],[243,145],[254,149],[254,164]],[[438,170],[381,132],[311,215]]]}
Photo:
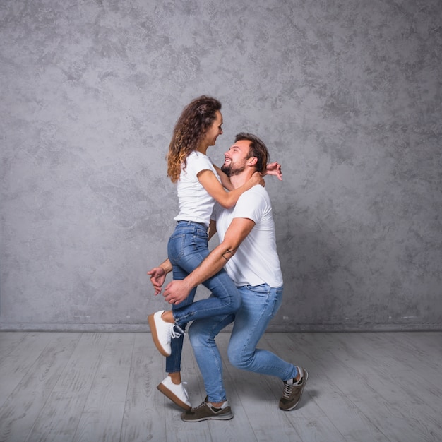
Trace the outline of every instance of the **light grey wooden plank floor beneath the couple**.
{"label": "light grey wooden plank floor beneath the couple", "polygon": [[[0,441],[442,441],[442,333],[271,333],[260,346],[309,370],[299,407],[280,411],[279,379],[225,358],[234,419],[186,423],[156,389],[148,333],[1,332]],[[187,338],[183,365],[198,405]]]}

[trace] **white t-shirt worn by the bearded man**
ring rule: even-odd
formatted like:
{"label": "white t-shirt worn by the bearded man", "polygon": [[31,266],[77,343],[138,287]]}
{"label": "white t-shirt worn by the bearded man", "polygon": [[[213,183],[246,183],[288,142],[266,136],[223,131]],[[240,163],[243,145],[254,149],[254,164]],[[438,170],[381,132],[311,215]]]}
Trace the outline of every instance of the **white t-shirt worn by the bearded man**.
{"label": "white t-shirt worn by the bearded man", "polygon": [[227,261],[225,269],[237,287],[268,284],[282,286],[280,259],[277,256],[275,222],[268,192],[263,186],[253,186],[244,192],[231,209],[215,203],[212,219],[216,220],[220,241],[234,218],[249,218],[253,229]]}

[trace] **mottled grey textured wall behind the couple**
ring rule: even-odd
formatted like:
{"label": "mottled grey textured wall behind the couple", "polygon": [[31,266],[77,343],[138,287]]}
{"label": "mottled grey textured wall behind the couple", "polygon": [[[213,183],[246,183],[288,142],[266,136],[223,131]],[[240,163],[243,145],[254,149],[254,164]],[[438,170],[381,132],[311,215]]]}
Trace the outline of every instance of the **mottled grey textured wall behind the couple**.
{"label": "mottled grey textured wall behind the couple", "polygon": [[271,330],[441,329],[441,23],[440,0],[1,1],[0,329],[147,330],[201,94],[217,164],[241,130],[282,163]]}

